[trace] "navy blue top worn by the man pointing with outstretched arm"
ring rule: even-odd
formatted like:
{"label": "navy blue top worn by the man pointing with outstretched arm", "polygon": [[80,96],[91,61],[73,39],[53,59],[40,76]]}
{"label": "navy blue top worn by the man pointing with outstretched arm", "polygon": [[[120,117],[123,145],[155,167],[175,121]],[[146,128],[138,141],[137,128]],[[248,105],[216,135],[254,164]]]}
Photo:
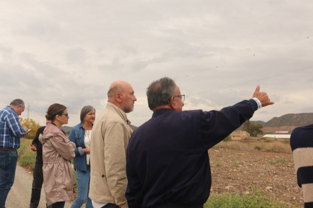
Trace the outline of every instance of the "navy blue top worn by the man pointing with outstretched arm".
{"label": "navy blue top worn by the man pointing with outstretched arm", "polygon": [[127,148],[129,207],[203,207],[211,188],[207,150],[256,109],[249,100],[221,111],[155,111],[134,131]]}

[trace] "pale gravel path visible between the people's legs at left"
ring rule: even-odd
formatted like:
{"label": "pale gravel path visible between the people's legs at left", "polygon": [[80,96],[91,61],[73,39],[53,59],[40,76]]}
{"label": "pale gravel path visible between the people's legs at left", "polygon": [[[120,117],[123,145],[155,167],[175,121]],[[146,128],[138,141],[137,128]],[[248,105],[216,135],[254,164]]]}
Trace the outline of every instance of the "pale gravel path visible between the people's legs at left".
{"label": "pale gravel path visible between the people's legs at left", "polygon": [[[20,166],[16,167],[15,180],[5,203],[6,208],[29,208],[33,175]],[[65,204],[70,208],[71,202]],[[85,207],[85,206],[83,206]],[[40,203],[38,208],[45,208],[45,191],[41,190]]]}

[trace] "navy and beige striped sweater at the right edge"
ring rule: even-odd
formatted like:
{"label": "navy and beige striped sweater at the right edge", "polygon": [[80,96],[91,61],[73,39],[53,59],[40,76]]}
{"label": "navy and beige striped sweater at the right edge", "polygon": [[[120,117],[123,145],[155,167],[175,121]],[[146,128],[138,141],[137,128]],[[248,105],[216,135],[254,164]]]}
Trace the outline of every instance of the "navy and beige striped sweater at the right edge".
{"label": "navy and beige striped sweater at the right edge", "polygon": [[313,208],[313,124],[293,129],[290,145],[304,207]]}

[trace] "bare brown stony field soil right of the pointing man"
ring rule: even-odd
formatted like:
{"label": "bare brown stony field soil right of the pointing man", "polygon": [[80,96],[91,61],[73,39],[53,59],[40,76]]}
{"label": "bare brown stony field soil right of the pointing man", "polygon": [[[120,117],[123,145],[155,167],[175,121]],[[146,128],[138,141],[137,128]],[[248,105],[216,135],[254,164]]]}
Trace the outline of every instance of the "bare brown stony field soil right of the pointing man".
{"label": "bare brown stony field soil right of the pointing man", "polygon": [[212,148],[209,156],[211,194],[249,194],[258,189],[277,202],[303,207],[291,153]]}

